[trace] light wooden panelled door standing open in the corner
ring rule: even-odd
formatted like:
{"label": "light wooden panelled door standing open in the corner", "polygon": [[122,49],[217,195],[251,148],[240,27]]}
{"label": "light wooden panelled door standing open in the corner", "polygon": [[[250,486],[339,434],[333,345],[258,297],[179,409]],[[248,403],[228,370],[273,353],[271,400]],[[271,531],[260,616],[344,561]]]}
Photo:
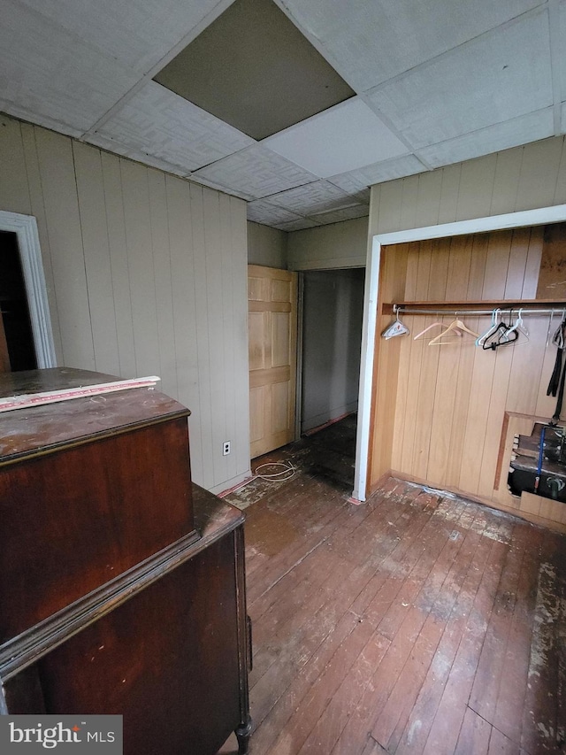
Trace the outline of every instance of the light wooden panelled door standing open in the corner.
{"label": "light wooden panelled door standing open in the corner", "polygon": [[294,440],[297,273],[248,266],[250,455]]}

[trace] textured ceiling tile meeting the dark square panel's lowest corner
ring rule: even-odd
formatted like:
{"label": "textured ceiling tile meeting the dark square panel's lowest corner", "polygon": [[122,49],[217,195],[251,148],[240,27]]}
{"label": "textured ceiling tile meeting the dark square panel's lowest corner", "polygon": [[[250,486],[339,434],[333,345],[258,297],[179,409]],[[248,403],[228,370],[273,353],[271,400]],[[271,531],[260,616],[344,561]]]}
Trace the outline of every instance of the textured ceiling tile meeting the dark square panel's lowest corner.
{"label": "textured ceiling tile meeting the dark square panel's lowest corner", "polygon": [[222,189],[238,191],[246,199],[277,194],[317,178],[261,144],[195,171],[194,177],[196,181],[202,177]]}

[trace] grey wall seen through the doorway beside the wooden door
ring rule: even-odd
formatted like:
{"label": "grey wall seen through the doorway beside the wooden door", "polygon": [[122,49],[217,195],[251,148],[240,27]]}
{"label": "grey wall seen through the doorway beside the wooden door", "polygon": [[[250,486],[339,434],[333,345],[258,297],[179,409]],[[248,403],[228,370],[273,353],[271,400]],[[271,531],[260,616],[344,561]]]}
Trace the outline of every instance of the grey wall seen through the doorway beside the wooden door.
{"label": "grey wall seen through the doorway beside the wooden door", "polygon": [[363,268],[304,273],[302,416],[305,432],[356,412]]}

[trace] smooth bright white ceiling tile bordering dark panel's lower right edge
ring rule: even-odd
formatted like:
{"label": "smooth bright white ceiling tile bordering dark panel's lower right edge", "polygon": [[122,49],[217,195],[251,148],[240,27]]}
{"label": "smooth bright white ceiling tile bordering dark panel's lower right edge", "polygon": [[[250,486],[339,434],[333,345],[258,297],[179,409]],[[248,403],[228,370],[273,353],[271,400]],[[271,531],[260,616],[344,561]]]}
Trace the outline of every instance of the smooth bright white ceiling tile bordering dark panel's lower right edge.
{"label": "smooth bright white ceiling tile bordering dark panel's lower right edge", "polygon": [[409,151],[357,97],[286,128],[262,144],[321,178]]}

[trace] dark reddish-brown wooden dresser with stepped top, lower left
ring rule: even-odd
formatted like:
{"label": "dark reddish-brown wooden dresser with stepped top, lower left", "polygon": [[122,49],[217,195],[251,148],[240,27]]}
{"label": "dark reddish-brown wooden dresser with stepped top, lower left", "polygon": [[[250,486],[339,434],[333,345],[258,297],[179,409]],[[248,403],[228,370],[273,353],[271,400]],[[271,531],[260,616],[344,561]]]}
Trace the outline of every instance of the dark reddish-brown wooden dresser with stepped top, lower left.
{"label": "dark reddish-brown wooden dresser with stepped top, lower left", "polygon": [[188,414],[147,388],[0,414],[2,713],[122,714],[126,755],[247,751],[243,515],[191,482]]}

